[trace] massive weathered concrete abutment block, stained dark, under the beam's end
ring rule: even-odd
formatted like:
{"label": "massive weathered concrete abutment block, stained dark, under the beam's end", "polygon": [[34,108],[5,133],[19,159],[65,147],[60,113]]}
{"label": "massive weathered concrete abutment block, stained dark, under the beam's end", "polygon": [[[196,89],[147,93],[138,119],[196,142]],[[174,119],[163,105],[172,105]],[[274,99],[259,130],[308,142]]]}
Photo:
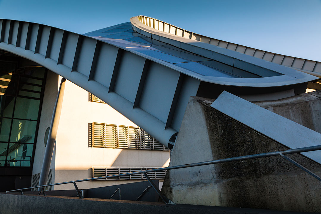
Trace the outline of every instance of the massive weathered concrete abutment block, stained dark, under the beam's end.
{"label": "massive weathered concrete abutment block, stained dark, under the beam's end", "polygon": [[[304,100],[305,95],[300,96]],[[305,99],[305,105],[317,100],[312,105],[317,110],[320,98],[312,96],[316,99]],[[190,99],[169,166],[288,149],[213,109],[212,102]],[[275,105],[272,109],[282,108]],[[321,175],[319,164],[299,154],[289,157]],[[320,191],[317,179],[282,157],[170,170],[162,188],[175,203],[311,212],[321,211]]]}

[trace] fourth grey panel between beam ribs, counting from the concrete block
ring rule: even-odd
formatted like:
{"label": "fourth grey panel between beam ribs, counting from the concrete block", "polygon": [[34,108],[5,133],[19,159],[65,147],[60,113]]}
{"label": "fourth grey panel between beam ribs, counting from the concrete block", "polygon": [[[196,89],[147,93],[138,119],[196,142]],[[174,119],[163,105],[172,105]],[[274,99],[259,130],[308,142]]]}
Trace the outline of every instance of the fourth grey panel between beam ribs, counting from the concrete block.
{"label": "fourth grey panel between beam ribs, counting from the concrete block", "polygon": [[109,86],[113,75],[118,48],[108,44],[102,44],[97,59],[96,71],[93,80],[102,85]]}

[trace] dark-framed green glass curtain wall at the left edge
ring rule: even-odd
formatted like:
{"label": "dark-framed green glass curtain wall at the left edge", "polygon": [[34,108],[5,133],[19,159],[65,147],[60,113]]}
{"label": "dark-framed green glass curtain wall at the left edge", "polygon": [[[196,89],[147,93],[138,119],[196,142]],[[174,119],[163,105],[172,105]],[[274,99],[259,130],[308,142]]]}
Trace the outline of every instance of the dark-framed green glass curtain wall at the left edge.
{"label": "dark-framed green glass curtain wall at the left edge", "polygon": [[30,167],[46,69],[0,61],[0,167]]}

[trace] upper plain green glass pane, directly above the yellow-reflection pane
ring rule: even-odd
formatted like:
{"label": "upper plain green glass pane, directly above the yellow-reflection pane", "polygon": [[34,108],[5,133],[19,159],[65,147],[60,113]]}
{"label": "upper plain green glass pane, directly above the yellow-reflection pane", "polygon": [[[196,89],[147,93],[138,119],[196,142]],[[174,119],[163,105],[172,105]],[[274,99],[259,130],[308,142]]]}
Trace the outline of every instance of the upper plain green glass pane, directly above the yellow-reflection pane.
{"label": "upper plain green glass pane, directly above the yellow-reflection pane", "polygon": [[40,100],[17,97],[14,118],[37,120]]}

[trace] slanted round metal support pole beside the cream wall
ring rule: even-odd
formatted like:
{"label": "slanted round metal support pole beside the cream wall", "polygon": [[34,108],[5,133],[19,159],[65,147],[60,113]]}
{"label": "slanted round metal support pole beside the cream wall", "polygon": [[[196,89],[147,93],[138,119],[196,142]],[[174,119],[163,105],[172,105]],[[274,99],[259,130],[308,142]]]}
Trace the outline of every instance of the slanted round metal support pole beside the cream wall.
{"label": "slanted round metal support pole beside the cream wall", "polygon": [[[45,155],[43,157],[42,168],[41,168],[41,173],[39,178],[39,186],[45,185],[47,183],[52,153],[54,151],[55,142],[56,142],[57,129],[58,129],[61,107],[62,107],[62,100],[64,97],[65,80],[66,80],[65,78],[61,79],[54,111],[51,117],[51,124],[50,124],[50,130],[48,134],[47,146],[45,150]],[[38,191],[40,191],[40,188],[38,188]]]}

